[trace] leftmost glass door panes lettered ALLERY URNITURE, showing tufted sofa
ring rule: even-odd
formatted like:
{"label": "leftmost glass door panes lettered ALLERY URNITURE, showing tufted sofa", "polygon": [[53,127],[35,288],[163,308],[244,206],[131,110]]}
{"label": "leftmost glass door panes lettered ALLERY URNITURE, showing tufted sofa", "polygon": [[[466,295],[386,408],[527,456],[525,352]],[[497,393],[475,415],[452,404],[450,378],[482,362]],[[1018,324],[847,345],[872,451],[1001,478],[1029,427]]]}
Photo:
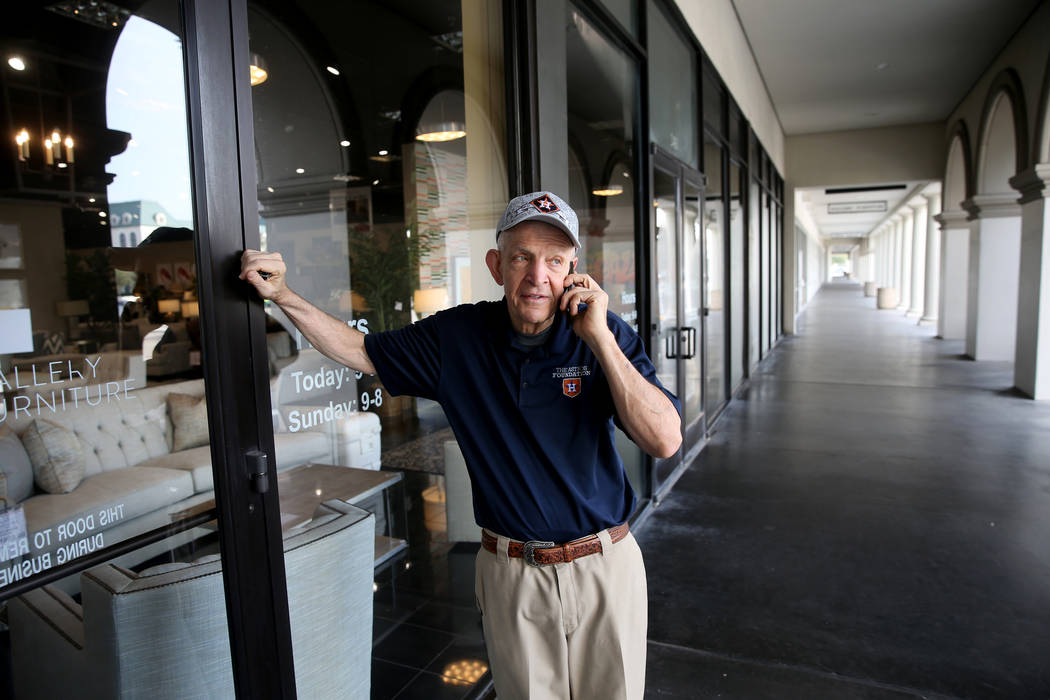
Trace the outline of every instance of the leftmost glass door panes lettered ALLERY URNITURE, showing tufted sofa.
{"label": "leftmost glass door panes lettered ALLERY URNITURE, showing tufted sofa", "polygon": [[87,4],[0,29],[0,595],[85,567],[6,602],[3,684],[232,695],[214,522],[87,566],[214,507],[178,3]]}

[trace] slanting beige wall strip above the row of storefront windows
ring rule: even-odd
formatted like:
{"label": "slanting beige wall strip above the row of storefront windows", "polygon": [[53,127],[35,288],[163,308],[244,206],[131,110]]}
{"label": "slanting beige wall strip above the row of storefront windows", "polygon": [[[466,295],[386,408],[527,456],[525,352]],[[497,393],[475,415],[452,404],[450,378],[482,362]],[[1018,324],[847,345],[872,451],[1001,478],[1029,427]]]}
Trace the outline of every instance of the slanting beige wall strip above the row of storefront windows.
{"label": "slanting beige wall strip above the row of storefront windows", "polygon": [[783,173],[783,127],[732,1],[678,0],[677,5],[777,170]]}

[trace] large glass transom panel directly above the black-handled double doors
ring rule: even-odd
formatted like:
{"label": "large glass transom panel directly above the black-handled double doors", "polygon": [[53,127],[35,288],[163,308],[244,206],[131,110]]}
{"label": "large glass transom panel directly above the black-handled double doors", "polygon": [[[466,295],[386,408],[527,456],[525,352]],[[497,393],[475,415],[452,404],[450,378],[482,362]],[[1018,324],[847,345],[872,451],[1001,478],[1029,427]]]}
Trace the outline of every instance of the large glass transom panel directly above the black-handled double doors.
{"label": "large glass transom panel directly above the black-handled double doors", "polygon": [[664,12],[649,3],[649,102],[652,141],[697,167],[696,57]]}

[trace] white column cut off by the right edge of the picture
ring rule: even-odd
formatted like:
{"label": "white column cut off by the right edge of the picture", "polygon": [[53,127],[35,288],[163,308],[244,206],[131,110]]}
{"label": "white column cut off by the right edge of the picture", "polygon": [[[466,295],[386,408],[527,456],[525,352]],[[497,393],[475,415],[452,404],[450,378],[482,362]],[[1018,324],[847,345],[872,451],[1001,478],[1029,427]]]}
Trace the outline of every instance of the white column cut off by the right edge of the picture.
{"label": "white column cut off by the right edge of the picture", "polygon": [[1050,399],[1050,163],[1010,179],[1021,192],[1021,277],[1014,385]]}

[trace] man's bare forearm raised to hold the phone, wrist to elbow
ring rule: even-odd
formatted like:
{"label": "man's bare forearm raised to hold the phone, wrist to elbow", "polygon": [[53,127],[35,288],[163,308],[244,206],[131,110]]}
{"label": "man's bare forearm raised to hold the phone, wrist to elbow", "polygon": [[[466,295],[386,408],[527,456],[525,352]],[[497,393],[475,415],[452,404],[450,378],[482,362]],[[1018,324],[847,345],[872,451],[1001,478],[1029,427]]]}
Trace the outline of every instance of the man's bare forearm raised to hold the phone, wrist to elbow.
{"label": "man's bare forearm raised to hold the phone, wrist to elbow", "polygon": [[610,332],[593,347],[612,391],[620,421],[638,447],[668,458],[681,444],[681,419],[674,404],[631,364]]}

